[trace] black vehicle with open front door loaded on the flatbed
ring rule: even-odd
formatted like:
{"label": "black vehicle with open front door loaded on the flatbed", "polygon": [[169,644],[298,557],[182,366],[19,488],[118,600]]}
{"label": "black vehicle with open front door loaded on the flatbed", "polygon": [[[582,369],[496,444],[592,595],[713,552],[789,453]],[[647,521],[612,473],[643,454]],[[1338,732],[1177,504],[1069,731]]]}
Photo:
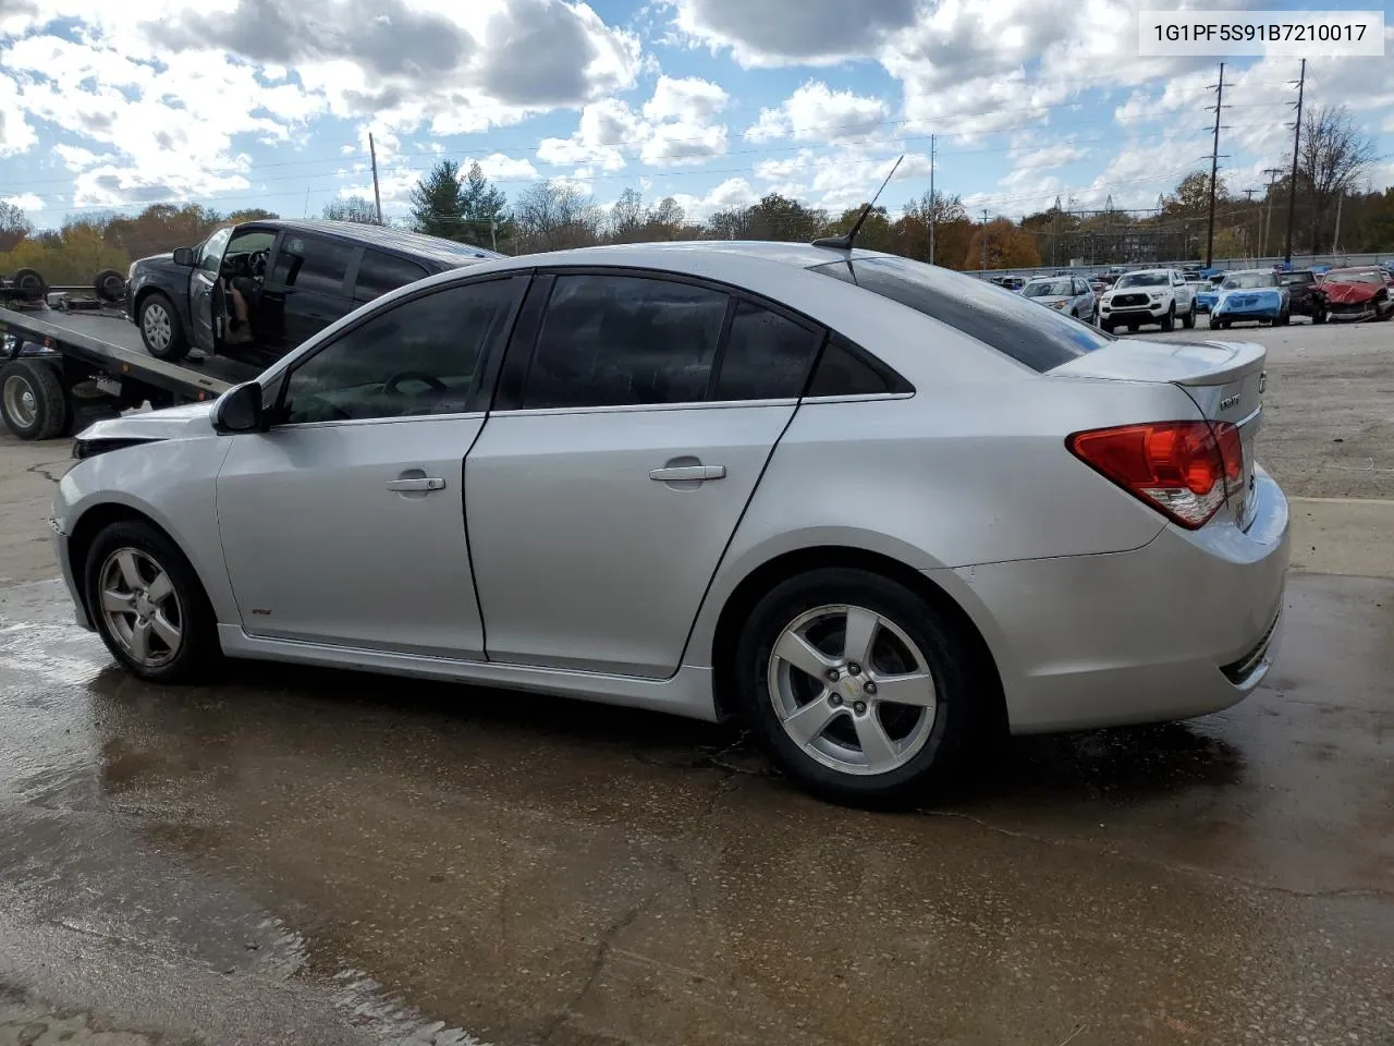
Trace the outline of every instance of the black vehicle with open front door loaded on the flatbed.
{"label": "black vehicle with open front door loaded on the flatbed", "polygon": [[[259,368],[379,294],[498,257],[385,226],[247,222],[197,247],[137,261],[125,312],[158,360],[177,363],[197,349]],[[247,300],[250,340],[229,338],[229,287]]]}

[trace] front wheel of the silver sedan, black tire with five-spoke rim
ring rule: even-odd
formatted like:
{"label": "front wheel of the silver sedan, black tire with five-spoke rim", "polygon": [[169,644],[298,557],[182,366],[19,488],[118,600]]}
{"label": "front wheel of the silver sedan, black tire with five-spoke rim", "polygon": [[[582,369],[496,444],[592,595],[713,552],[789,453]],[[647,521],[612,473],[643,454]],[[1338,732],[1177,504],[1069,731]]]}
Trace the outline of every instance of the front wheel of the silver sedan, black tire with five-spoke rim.
{"label": "front wheel of the silver sedan, black tire with five-spoke rim", "polygon": [[[169,582],[164,596],[152,593],[160,577]],[[96,536],[88,549],[84,591],[106,649],[139,679],[191,682],[222,660],[213,608],[198,575],[174,543],[145,520],[120,520]],[[131,609],[105,609],[120,605],[113,594],[130,594]]]}

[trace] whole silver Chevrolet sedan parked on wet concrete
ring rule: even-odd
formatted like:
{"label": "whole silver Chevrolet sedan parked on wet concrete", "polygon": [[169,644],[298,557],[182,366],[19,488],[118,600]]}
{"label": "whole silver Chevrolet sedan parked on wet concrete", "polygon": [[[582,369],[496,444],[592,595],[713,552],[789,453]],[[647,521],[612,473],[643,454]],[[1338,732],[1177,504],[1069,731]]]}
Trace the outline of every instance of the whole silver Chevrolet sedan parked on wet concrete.
{"label": "whole silver Chevrolet sedan parked on wet concrete", "polygon": [[86,428],[52,524],[145,681],[227,655],[732,718],[814,794],[898,803],[980,728],[1259,685],[1264,358],[846,247],[485,261]]}

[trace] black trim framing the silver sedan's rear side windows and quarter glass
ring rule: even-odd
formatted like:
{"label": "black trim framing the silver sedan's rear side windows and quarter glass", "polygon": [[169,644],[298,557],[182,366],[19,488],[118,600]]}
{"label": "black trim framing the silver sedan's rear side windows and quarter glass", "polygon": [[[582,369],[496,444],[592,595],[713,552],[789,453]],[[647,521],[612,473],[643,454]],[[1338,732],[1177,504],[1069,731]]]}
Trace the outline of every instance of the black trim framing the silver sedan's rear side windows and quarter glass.
{"label": "black trim framing the silver sedan's rear side windows and quarter glass", "polygon": [[[750,290],[749,287],[742,287],[733,283],[725,283],[723,280],[717,280],[710,276],[697,276],[687,272],[672,272],[669,269],[655,269],[647,265],[546,265],[533,269],[534,280],[533,286],[528,287],[527,296],[520,310],[520,318],[514,322],[513,336],[509,339],[507,349],[503,353],[503,365],[500,368],[500,375],[498,381],[498,388],[495,396],[488,410],[491,414],[556,414],[556,413],[615,413],[615,411],[636,411],[636,410],[698,410],[698,409],[725,409],[725,407],[740,407],[751,404],[772,406],[779,403],[839,403],[839,402],[859,402],[871,399],[905,399],[914,395],[914,386],[889,364],[880,360],[878,357],[863,349],[855,339],[842,333],[841,331],[832,331],[827,324],[822,324],[813,317],[800,312],[799,310],[790,308],[783,303],[774,301],[764,297],[763,294]],[[538,338],[542,333],[542,318],[546,314],[546,305],[552,297],[552,287],[556,285],[558,276],[634,276],[638,279],[654,279],[654,280],[668,280],[671,283],[686,283],[696,287],[704,287],[707,290],[714,290],[728,296],[726,317],[721,328],[721,339],[717,343],[717,353],[712,357],[712,374],[707,382],[705,396],[700,400],[684,400],[682,403],[622,403],[613,406],[602,407],[521,407],[523,391],[527,388],[527,377],[533,370],[533,358],[537,354]],[[804,375],[803,389],[797,396],[778,396],[772,399],[737,399],[737,400],[712,400],[708,396],[715,391],[715,381],[719,377],[721,360],[726,351],[726,340],[730,335],[730,322],[735,317],[736,303],[749,301],[760,308],[769,310],[778,317],[788,319],[799,326],[807,329],[811,335],[818,338],[818,347],[813,354],[813,363],[809,367],[809,372]],[[527,317],[528,322],[524,322],[523,314],[530,312]],[[885,379],[889,392],[873,392],[873,393],[849,393],[842,396],[817,396],[810,397],[809,388],[813,384],[814,377],[818,372],[818,364],[822,361],[822,354],[831,340],[832,335],[838,335],[845,349],[852,354],[859,363],[866,364],[873,371],[875,371],[881,378]]]}

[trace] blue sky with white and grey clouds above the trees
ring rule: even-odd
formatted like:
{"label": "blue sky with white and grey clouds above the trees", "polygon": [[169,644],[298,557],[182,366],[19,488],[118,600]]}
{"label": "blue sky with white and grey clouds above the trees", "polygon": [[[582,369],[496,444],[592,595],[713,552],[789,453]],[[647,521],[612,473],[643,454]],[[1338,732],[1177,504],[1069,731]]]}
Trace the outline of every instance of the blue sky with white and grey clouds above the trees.
{"label": "blue sky with white and grey clouds above the trees", "polygon": [[[562,179],[690,218],[768,192],[836,213],[930,184],[991,216],[1154,206],[1209,169],[1216,57],[1139,57],[1139,10],[1285,0],[0,0],[0,199],[39,227],[199,202],[383,212],[439,158],[509,197]],[[1394,184],[1386,57],[1315,57],[1305,103],[1345,105]],[[1351,8],[1344,8],[1351,10]],[[1296,57],[1230,59],[1234,191],[1291,163]]]}

